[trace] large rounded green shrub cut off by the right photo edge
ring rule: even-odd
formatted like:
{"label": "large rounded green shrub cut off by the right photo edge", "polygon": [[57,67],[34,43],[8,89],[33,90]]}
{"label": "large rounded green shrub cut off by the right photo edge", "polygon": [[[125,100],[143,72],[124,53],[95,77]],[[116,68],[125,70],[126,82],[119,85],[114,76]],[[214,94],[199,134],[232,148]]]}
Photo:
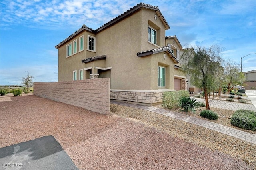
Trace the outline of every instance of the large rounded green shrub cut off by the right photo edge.
{"label": "large rounded green shrub cut off by the right photo edge", "polygon": [[256,112],[252,110],[236,110],[231,117],[231,124],[239,128],[256,130]]}

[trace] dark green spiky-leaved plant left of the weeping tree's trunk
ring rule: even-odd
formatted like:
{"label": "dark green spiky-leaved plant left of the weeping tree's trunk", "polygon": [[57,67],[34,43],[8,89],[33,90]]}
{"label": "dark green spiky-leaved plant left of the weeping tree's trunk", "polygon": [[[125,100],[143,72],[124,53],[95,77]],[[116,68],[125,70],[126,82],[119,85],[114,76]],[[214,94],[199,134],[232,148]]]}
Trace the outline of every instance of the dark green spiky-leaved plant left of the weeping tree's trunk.
{"label": "dark green spiky-leaved plant left of the weeping tree's trunk", "polygon": [[179,106],[182,107],[186,112],[195,112],[195,108],[198,108],[199,105],[199,102],[197,102],[195,98],[190,98],[189,96],[182,96],[179,100]]}

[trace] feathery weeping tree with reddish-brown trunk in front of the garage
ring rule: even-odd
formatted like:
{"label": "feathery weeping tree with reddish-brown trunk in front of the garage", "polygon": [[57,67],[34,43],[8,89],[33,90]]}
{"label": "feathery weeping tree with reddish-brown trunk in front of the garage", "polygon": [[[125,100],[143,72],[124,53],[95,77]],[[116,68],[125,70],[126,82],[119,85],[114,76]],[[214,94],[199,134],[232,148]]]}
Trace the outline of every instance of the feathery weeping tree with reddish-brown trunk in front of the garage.
{"label": "feathery weeping tree with reddish-brown trunk in front of the garage", "polygon": [[216,86],[215,76],[221,68],[221,52],[222,47],[214,45],[210,48],[186,48],[180,56],[180,66],[186,74],[190,75],[190,82],[199,88],[204,88],[207,110],[210,110],[208,92]]}

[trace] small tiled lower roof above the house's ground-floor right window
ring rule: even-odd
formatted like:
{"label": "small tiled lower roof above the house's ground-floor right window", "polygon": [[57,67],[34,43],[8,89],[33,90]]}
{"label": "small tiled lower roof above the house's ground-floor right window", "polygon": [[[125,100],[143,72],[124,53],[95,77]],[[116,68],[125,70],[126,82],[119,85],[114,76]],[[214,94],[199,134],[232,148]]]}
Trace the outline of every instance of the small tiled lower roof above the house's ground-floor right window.
{"label": "small tiled lower roof above the house's ground-floor right window", "polygon": [[165,52],[165,51],[167,51],[168,54],[170,54],[170,57],[174,61],[174,64],[178,64],[179,63],[177,58],[172,53],[170,46],[164,46],[164,47],[160,47],[160,48],[155,48],[155,49],[151,49],[151,50],[137,52],[137,56],[138,57],[143,57],[143,56],[148,56],[148,55],[151,55],[151,54],[157,54],[159,52]]}

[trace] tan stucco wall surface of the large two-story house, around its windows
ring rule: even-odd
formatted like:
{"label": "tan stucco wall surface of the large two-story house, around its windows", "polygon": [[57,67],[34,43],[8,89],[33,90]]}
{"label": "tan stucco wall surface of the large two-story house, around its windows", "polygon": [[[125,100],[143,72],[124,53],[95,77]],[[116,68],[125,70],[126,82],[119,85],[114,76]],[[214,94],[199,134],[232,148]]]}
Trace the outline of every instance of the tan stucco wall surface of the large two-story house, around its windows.
{"label": "tan stucco wall surface of the large two-story house, around its windows", "polygon": [[[126,19],[96,33],[83,31],[66,44],[84,35],[84,51],[66,58],[66,44],[59,48],[59,81],[72,80],[74,70],[92,67],[112,67],[102,76],[111,77],[111,89],[158,90],[158,65],[166,67],[166,87],[174,89],[174,62],[164,53],[137,57],[137,52],[165,46],[165,26],[160,18],[154,20],[154,10],[141,8]],[[148,42],[148,26],[157,31],[157,45]],[[96,37],[96,52],[86,51],[87,35]],[[73,50],[73,44],[72,44]],[[82,64],[81,60],[92,56],[106,55],[106,60]],[[84,71],[84,78],[89,71]],[[101,77],[101,75],[100,75]],[[77,78],[78,79],[78,78]]]}

